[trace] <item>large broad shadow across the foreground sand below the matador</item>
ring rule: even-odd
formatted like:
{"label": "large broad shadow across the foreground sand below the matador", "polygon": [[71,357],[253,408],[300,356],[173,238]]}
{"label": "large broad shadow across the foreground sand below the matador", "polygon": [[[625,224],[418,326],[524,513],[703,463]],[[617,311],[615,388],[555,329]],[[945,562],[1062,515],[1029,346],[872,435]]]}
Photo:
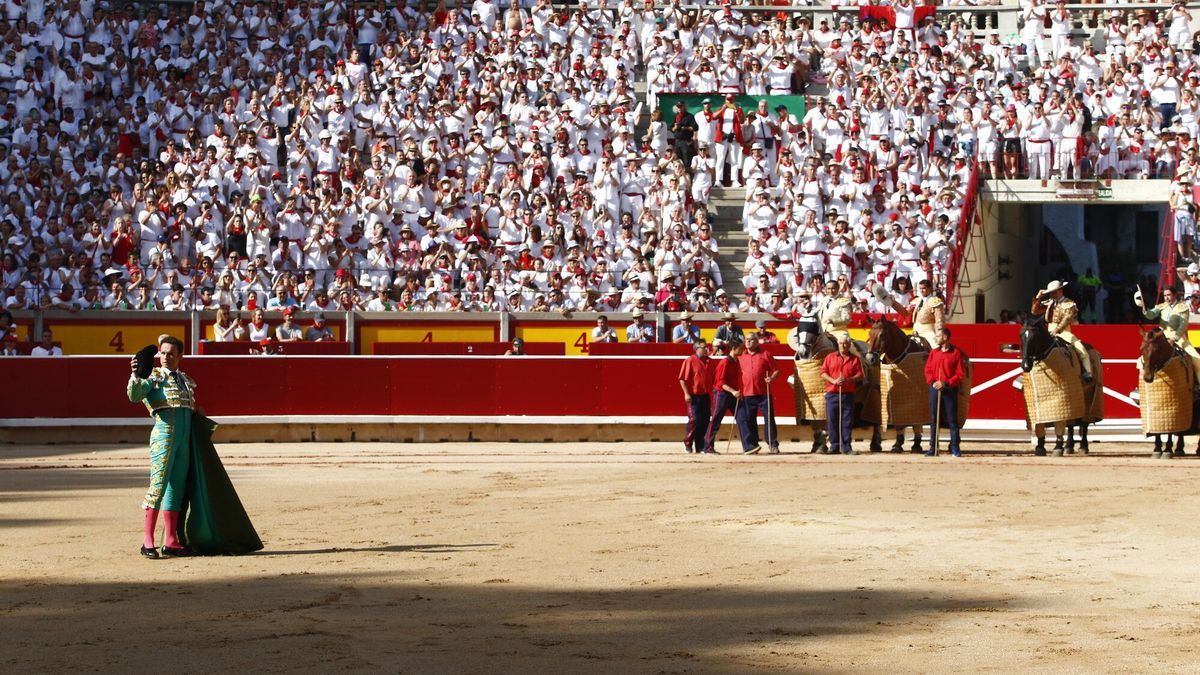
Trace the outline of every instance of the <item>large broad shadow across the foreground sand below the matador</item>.
{"label": "large broad shadow across the foreground sand below the matador", "polygon": [[[443,565],[469,567],[491,555],[485,546],[290,554],[449,551],[461,555]],[[13,671],[80,664],[134,670],[145,665],[150,641],[155,653],[174,655],[184,670],[204,671],[846,670],[854,668],[853,659],[821,661],[829,640],[920,639],[947,613],[1010,611],[1024,604],[1022,598],[948,597],[920,589],[769,591],[756,579],[736,577],[707,586],[613,589],[604,587],[611,575],[590,575],[586,565],[577,579],[556,580],[560,587],[503,578],[431,585],[421,579],[428,558],[395,561],[396,569],[385,574],[280,573],[263,554],[146,561],[144,583],[10,578],[7,609],[0,613],[4,661]],[[353,565],[354,555],[337,562]]]}

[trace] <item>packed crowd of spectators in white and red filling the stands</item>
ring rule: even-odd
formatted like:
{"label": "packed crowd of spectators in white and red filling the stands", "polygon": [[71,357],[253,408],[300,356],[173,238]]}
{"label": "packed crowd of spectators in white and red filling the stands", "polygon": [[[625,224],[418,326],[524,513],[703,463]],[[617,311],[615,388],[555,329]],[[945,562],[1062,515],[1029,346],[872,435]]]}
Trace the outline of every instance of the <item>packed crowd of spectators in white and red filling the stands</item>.
{"label": "packed crowd of spectators in white and red filling the stands", "polygon": [[[886,310],[875,285],[946,282],[977,160],[1170,177],[1192,213],[1186,7],[1114,11],[1097,49],[1037,0],[1016,43],[893,5],[894,28],[677,1],[8,0],[0,299],[787,313],[832,280]],[[732,100],[816,86],[800,118]],[[664,115],[680,91],[710,96]],[[744,298],[719,183],[745,189]]]}

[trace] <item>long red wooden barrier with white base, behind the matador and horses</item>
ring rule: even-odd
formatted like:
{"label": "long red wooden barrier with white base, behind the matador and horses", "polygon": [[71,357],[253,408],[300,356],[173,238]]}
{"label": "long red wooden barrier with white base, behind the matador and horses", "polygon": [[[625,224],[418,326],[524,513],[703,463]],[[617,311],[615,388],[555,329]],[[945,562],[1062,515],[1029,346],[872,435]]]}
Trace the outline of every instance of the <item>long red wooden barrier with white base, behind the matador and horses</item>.
{"label": "long red wooden barrier with white base, behind the matador and horses", "polygon": [[[1104,354],[1105,416],[1136,418],[1124,399],[1136,389],[1139,333],[1133,325],[1084,325],[1078,334]],[[972,356],[973,419],[1024,418],[1010,383],[1016,325],[954,327],[954,341]],[[312,345],[312,344],[308,344]],[[623,347],[629,347],[623,345]],[[679,348],[666,346],[664,348]],[[682,348],[685,353],[686,348]],[[784,348],[786,351],[786,348]],[[456,357],[188,357],[184,369],[198,384],[209,414],[414,414],[414,416],[683,416],[677,384],[683,354],[640,358]],[[137,417],[125,398],[128,357],[4,359],[0,417]],[[779,357],[785,376],[788,357]],[[786,377],[772,389],[778,410],[792,410]]]}

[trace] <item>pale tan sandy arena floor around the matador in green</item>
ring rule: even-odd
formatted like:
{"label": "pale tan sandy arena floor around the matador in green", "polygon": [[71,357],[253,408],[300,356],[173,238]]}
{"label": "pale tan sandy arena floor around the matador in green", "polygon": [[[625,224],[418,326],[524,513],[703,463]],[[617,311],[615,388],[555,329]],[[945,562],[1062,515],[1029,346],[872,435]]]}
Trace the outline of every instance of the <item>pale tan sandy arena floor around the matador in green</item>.
{"label": "pale tan sandy arena floor around the matador in green", "polygon": [[266,550],[146,561],[143,448],[0,447],[0,667],[1200,668],[1200,461],[1006,448],[230,444]]}

